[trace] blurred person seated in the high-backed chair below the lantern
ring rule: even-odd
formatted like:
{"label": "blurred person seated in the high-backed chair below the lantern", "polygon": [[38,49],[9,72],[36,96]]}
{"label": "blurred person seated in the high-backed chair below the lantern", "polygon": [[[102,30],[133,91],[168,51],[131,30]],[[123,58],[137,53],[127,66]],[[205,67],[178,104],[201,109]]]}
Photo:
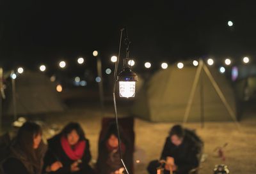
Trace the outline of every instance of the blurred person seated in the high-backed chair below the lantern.
{"label": "blurred person seated in the high-backed chair below the lantern", "polygon": [[[120,133],[121,134],[121,133]],[[131,170],[132,160],[127,155],[131,152],[131,148],[127,141],[121,137],[121,150],[122,158],[127,167],[127,170]],[[116,125],[111,124],[108,127],[104,138],[99,141],[99,155],[97,159],[97,171],[99,174],[118,174],[124,171],[124,166],[120,161],[120,155],[118,150],[118,134],[116,131]]]}

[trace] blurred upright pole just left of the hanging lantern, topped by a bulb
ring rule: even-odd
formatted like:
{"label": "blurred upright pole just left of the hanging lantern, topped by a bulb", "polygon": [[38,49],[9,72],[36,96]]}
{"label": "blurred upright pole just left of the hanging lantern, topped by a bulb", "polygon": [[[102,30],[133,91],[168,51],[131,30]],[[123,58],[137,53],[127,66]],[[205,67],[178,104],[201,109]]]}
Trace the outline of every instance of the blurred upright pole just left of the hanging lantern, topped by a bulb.
{"label": "blurred upright pole just left of the hanging lantern, topped by a bulb", "polygon": [[100,106],[101,106],[101,114],[102,117],[104,117],[104,92],[103,92],[103,78],[102,78],[102,64],[101,59],[99,56],[97,56],[97,72],[98,76],[100,77],[99,82],[99,93],[100,93]]}

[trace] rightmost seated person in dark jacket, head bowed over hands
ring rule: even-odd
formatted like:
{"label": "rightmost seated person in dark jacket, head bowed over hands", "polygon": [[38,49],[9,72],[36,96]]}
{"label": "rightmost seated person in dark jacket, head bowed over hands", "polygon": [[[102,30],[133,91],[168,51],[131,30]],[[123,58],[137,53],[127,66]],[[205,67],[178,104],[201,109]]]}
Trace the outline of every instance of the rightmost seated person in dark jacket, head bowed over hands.
{"label": "rightmost seated person in dark jacket, head bowed over hands", "polygon": [[172,170],[176,174],[188,174],[199,166],[203,146],[203,141],[194,131],[175,125],[166,138],[160,161],[151,161],[148,173],[156,174],[157,168],[164,163],[164,173]]}

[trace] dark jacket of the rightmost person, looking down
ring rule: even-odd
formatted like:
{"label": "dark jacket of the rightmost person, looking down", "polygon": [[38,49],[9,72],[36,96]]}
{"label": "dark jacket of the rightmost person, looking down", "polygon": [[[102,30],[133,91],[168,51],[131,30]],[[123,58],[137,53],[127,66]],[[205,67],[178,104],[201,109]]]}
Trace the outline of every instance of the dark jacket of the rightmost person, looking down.
{"label": "dark jacket of the rightmost person, looking down", "polygon": [[193,131],[185,129],[184,140],[178,147],[172,143],[170,136],[166,138],[161,159],[173,157],[178,166],[176,173],[187,174],[189,170],[199,166],[202,149],[202,140]]}

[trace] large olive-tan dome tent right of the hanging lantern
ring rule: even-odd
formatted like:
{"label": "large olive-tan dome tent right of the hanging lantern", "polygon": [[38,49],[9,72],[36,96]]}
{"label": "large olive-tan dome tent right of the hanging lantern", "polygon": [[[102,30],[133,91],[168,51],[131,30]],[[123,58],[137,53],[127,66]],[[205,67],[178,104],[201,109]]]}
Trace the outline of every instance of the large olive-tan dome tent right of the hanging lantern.
{"label": "large olive-tan dome tent right of the hanging lantern", "polygon": [[[191,100],[188,121],[197,122],[200,120],[202,109],[200,98],[202,96],[204,96],[205,121],[236,120],[236,100],[230,84],[225,76],[221,75],[215,68],[211,68],[210,71],[212,79],[220,87],[230,110],[228,112],[227,107],[221,101],[207,73],[201,71],[198,84],[195,85],[194,98]],[[172,65],[168,69],[158,71],[138,92],[132,106],[132,114],[153,122],[182,122],[188,107],[196,72],[197,67],[186,64],[182,69]],[[201,89],[203,89],[202,93],[200,92]],[[230,112],[234,113],[235,118],[230,117]]]}

